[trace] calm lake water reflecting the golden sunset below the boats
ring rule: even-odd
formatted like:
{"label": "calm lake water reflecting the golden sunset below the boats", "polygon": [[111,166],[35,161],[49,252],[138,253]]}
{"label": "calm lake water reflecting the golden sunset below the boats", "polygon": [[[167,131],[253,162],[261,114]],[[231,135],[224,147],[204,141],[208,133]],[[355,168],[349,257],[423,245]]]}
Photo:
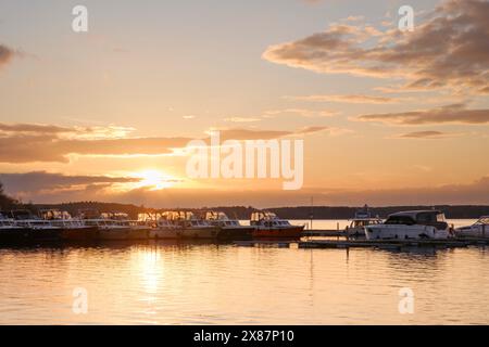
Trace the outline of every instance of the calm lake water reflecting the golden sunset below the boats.
{"label": "calm lake water reflecting the golden sunset below the boats", "polygon": [[[488,264],[485,247],[0,248],[0,323],[488,324]],[[399,312],[403,287],[414,294],[412,314]],[[73,311],[75,288],[86,290],[87,313]]]}

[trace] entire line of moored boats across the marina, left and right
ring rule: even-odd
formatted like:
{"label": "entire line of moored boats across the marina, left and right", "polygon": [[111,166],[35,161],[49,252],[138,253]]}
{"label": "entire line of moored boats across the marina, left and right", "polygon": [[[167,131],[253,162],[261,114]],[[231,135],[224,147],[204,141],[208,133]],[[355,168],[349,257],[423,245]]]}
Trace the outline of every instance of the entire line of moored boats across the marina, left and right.
{"label": "entire line of moored boats across the marina, left and right", "polygon": [[[124,241],[124,240],[217,240],[252,239],[298,240],[304,226],[292,226],[269,211],[255,211],[249,224],[230,219],[222,211],[164,211],[140,214],[133,220],[126,214],[86,209],[72,217],[66,211],[28,210],[0,211],[0,244],[43,241]],[[368,207],[359,210],[346,229],[346,234],[366,240],[416,240],[451,237],[489,237],[489,216],[476,223],[454,229],[440,210],[396,213],[386,220],[372,217]]]}

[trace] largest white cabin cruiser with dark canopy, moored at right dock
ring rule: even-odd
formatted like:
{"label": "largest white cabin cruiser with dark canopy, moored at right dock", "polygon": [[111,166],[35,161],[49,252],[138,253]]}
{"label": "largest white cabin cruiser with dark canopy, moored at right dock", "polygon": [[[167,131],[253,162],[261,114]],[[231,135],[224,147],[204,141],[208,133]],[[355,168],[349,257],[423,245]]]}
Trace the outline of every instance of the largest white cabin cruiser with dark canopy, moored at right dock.
{"label": "largest white cabin cruiser with dark canopy, moored at right dock", "polygon": [[452,236],[440,210],[410,210],[392,214],[381,224],[365,228],[367,240],[448,239]]}

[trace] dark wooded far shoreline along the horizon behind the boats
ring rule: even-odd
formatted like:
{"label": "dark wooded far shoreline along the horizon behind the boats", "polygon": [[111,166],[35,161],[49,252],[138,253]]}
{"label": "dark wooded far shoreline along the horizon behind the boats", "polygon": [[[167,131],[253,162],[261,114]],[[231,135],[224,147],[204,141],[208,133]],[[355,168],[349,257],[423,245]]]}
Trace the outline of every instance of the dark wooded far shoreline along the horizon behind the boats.
{"label": "dark wooded far shoreline along the horizon behind the boats", "polygon": [[[14,198],[8,196],[3,192],[3,185],[0,182],[0,210],[11,209],[29,209],[37,214],[40,209],[60,209],[66,210],[72,216],[78,215],[82,209],[97,209],[100,213],[125,213],[131,218],[136,219],[140,213],[158,213],[167,209],[150,208],[145,206],[136,206],[131,204],[116,204],[116,203],[99,203],[99,202],[77,202],[64,204],[23,204]],[[489,206],[478,205],[441,205],[441,206],[389,206],[389,207],[371,207],[372,216],[379,216],[386,218],[388,215],[410,209],[440,209],[444,211],[447,218],[462,219],[462,218],[479,218],[480,216],[489,216]],[[286,219],[349,219],[355,215],[359,207],[331,207],[331,206],[298,206],[298,207],[275,207],[267,208],[267,210],[277,214],[279,217]],[[229,218],[249,219],[251,213],[258,210],[251,206],[218,206],[218,207],[203,207],[201,209],[186,208],[195,213],[203,210],[220,210],[224,211]]]}

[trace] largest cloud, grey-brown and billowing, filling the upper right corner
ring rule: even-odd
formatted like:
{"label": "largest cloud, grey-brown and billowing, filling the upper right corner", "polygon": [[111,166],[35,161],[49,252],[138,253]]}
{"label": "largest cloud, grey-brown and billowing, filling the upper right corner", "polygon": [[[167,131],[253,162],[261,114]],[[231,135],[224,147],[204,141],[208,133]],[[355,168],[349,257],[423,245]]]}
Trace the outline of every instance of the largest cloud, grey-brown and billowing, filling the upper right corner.
{"label": "largest cloud, grey-brown and billowing, filling the upper right corner", "polygon": [[271,46],[263,59],[322,74],[402,78],[404,90],[487,93],[489,2],[448,0],[414,31],[333,24],[325,31]]}

